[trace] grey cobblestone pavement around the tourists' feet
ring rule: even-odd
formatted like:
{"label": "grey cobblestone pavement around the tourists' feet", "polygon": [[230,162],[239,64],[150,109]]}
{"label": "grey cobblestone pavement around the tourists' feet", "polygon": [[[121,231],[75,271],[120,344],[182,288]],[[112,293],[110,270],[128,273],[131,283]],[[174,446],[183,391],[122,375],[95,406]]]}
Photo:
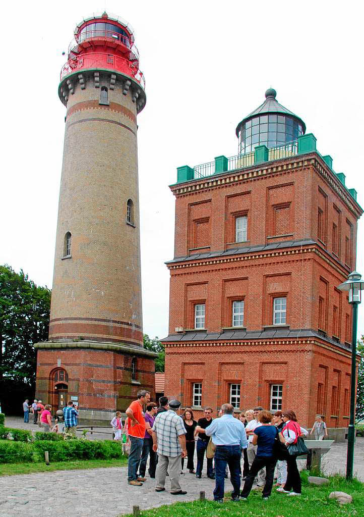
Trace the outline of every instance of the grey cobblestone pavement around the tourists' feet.
{"label": "grey cobblestone pavement around the tourists' feet", "polygon": [[[10,427],[11,418],[7,418],[6,423]],[[344,474],[346,443],[333,444],[322,463],[327,474]],[[364,438],[356,440],[354,473],[364,481]],[[26,513],[37,514],[52,512],[62,517],[88,517],[95,513],[115,517],[131,513],[133,505],[147,509],[181,500],[195,500],[201,490],[212,499],[215,486],[214,481],[205,475],[198,480],[187,472],[181,476],[181,486],[187,490],[187,494],[173,496],[169,493],[168,477],[166,491],[162,493],[155,492],[154,480],[148,478],[143,486],[134,487],[128,484],[126,478],[126,467],[3,476],[0,477],[0,515],[14,517],[25,510]],[[231,490],[230,480],[226,480],[225,489]]]}

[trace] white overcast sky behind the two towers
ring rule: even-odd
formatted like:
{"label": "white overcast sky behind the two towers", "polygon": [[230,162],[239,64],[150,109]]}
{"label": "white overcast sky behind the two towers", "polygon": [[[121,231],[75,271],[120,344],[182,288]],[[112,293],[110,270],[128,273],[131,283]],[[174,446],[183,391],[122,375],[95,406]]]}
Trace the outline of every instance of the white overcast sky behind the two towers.
{"label": "white overcast sky behind the two towers", "polygon": [[[59,72],[75,25],[106,8],[135,29],[144,332],[167,335],[176,168],[238,154],[235,127],[277,90],[364,206],[362,3],[18,2],[3,6],[0,264],[52,286],[66,109]],[[4,12],[5,9],[5,12]],[[364,273],[364,222],[357,270]],[[364,332],[364,304],[359,309]]]}

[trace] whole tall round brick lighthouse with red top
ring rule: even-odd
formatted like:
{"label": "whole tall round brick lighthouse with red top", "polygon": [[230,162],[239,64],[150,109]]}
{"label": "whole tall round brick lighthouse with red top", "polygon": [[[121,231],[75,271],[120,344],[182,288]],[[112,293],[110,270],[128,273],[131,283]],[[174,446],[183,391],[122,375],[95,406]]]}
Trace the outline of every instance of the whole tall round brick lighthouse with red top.
{"label": "whole tall round brick lighthouse with red top", "polygon": [[37,396],[109,419],[143,386],[136,117],[144,76],[132,27],[106,12],[74,31],[58,95],[67,108],[49,342],[38,343]]}

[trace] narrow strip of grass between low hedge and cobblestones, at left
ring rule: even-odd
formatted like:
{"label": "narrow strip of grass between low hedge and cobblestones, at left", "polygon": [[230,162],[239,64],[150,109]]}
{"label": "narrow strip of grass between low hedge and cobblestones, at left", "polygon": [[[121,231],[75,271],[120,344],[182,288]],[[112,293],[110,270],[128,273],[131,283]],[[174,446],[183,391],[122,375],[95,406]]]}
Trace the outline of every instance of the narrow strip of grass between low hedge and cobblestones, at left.
{"label": "narrow strip of grass between low hedge and cobblestones, at left", "polygon": [[0,464],[0,476],[31,474],[34,472],[52,472],[53,470],[75,470],[80,468],[124,467],[128,460],[76,460],[50,463],[3,463]]}

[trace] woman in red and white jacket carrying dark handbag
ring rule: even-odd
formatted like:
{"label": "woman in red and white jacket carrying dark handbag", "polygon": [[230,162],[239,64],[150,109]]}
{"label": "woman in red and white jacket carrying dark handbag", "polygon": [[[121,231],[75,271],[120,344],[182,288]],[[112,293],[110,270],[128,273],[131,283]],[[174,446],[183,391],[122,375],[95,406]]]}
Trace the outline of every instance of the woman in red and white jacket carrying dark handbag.
{"label": "woman in red and white jacket carrying dark handbag", "polygon": [[[308,435],[306,429],[300,427],[297,423],[297,417],[292,409],[283,411],[282,420],[284,427],[282,429],[282,435],[285,440],[285,444],[288,448],[289,455],[287,457],[287,481],[284,486],[277,488],[277,492],[282,492],[287,495],[301,495],[302,486],[301,478],[297,467],[297,456],[304,454],[307,448],[301,438],[301,435]],[[291,492],[292,490],[292,492]]]}

